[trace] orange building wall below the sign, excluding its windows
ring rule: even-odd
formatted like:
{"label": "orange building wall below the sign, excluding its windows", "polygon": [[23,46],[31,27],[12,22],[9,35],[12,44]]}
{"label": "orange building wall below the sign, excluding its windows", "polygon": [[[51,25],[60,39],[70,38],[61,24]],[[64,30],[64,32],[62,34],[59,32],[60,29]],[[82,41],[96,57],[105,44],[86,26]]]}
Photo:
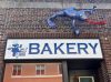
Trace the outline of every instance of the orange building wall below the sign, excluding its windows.
{"label": "orange building wall below the sign, excluding its windows", "polygon": [[[62,82],[62,74],[59,73],[59,63],[18,63],[21,65],[21,75],[12,75],[13,65],[7,63],[3,82]],[[36,74],[36,65],[44,65],[44,74]]]}

